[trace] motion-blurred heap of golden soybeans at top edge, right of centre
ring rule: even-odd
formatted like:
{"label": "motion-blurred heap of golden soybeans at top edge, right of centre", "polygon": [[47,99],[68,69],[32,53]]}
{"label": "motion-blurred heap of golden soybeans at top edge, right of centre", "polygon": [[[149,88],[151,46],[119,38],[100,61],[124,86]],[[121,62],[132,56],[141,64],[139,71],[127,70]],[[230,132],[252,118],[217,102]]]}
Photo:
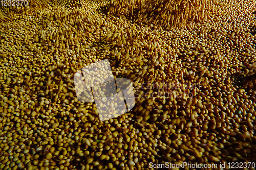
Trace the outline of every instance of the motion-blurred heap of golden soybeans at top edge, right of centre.
{"label": "motion-blurred heap of golden soybeans at top edge, right of centre", "polygon": [[136,18],[155,29],[193,28],[214,11],[216,1],[211,0],[155,0],[144,4]]}

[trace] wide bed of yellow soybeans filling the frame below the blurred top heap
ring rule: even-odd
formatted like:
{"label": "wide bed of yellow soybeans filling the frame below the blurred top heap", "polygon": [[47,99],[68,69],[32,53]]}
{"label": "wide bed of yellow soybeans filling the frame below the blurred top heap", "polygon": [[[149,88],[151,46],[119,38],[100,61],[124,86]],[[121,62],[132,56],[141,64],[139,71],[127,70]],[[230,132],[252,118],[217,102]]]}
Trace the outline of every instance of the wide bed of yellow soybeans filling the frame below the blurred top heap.
{"label": "wide bed of yellow soybeans filling the frame below the blurred top heap", "polygon": [[[256,4],[217,4],[172,31],[105,14],[109,1],[1,8],[0,169],[255,162]],[[74,74],[103,59],[132,80],[136,105],[100,122]]]}

